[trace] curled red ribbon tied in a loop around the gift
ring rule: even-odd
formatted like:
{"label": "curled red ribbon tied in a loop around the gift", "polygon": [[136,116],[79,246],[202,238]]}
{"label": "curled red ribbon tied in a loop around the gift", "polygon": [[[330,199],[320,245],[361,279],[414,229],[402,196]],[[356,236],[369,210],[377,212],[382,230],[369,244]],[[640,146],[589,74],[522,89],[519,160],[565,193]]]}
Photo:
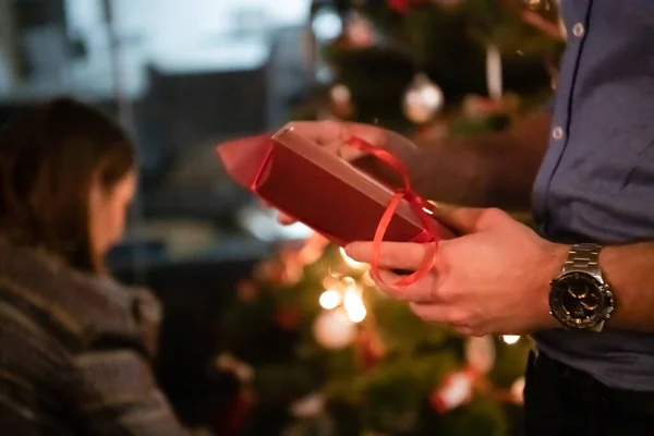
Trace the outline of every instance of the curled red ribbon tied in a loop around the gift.
{"label": "curled red ribbon tied in a loop around the gift", "polygon": [[409,178],[409,171],[407,170],[407,167],[392,154],[383,148],[375,147],[366,141],[354,136],[350,137],[346,144],[352,148],[356,148],[366,154],[375,156],[377,159],[390,167],[398,175],[400,175],[403,182],[402,187],[396,189],[393,196],[390,198],[390,202],[388,203],[388,206],[386,207],[386,210],[379,220],[377,230],[375,231],[375,237],[373,239],[373,255],[371,259],[371,276],[377,282],[388,286],[388,283],[386,283],[379,275],[382,242],[384,242],[384,235],[388,230],[388,226],[390,226],[390,222],[392,221],[395,213],[402,203],[402,199],[405,199],[409,203],[409,206],[411,206],[411,209],[420,219],[423,228],[434,240],[434,242],[429,244],[431,246],[427,249],[425,256],[423,257],[416,270],[411,275],[402,276],[402,278],[398,279],[393,283],[390,283],[392,287],[405,287],[413,284],[427,275],[436,263],[438,229],[432,216],[425,211],[425,208],[431,209],[432,205],[415,193],[413,185],[411,184],[411,179]]}

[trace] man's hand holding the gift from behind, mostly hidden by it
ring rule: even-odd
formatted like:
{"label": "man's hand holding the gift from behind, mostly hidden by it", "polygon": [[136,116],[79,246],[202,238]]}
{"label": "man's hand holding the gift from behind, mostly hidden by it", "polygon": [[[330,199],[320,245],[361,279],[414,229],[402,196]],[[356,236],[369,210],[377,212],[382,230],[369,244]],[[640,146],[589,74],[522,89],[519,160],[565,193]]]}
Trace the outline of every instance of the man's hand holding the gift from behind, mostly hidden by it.
{"label": "man's hand holding the gift from behind, mostly hidden by it", "polygon": [[[346,141],[352,136],[360,137],[368,144],[388,149],[397,156],[417,153],[419,148],[407,137],[371,124],[347,123],[338,121],[295,121],[286,126],[312,140],[316,145],[334,152],[347,160],[354,160],[363,155],[362,152],[348,147]],[[278,220],[282,225],[295,222],[292,217],[280,214]]]}

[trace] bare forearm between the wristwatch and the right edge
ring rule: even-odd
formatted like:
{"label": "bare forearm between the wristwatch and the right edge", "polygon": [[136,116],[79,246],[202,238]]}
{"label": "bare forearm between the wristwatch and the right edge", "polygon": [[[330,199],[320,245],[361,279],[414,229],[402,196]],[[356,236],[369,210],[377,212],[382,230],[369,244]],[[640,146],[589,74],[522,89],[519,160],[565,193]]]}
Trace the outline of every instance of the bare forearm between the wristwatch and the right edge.
{"label": "bare forearm between the wristwatch and the right edge", "polygon": [[608,325],[654,332],[654,242],[605,246],[600,265],[616,300]]}

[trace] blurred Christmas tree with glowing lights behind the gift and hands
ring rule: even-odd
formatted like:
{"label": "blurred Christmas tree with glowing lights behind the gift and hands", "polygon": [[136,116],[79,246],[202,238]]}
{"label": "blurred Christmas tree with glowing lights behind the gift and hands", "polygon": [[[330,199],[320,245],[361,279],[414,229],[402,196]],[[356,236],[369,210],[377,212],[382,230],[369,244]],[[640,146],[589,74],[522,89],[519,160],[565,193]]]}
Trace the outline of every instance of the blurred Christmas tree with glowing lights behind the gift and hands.
{"label": "blurred Christmas tree with glowing lights behind the gift and hands", "polygon": [[[336,17],[342,31],[316,44],[318,78],[329,82],[298,117],[376,122],[420,142],[502,129],[549,95],[562,39],[547,1],[324,8],[315,20]],[[318,235],[259,265],[225,307],[220,331],[214,366],[241,386],[234,435],[519,428],[528,338],[465,338],[427,325],[380,292],[366,265]]]}

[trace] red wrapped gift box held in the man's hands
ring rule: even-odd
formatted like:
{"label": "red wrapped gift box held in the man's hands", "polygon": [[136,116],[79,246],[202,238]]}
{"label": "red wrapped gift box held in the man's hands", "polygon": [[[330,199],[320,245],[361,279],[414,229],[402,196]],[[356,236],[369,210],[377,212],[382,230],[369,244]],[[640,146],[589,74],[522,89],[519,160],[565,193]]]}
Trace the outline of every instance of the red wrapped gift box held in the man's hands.
{"label": "red wrapped gift box held in the man's hands", "polygon": [[[388,152],[361,144],[356,138],[351,143],[373,155],[386,154],[377,157],[401,167]],[[232,141],[217,153],[239,184],[340,246],[375,239],[428,243],[451,235],[410,186],[393,189],[292,128]],[[400,175],[409,184],[407,174]]]}

